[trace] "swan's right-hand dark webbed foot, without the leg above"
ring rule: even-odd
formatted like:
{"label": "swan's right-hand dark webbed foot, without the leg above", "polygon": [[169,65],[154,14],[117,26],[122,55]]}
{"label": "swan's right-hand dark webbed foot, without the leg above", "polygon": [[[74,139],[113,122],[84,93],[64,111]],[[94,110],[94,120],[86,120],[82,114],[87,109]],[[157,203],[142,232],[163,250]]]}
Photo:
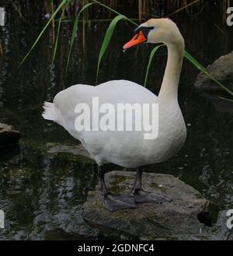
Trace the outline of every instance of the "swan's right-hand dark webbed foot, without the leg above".
{"label": "swan's right-hand dark webbed foot, without the leg above", "polygon": [[135,202],[139,203],[162,204],[163,202],[172,202],[172,199],[149,191],[136,190],[132,195],[134,195]]}

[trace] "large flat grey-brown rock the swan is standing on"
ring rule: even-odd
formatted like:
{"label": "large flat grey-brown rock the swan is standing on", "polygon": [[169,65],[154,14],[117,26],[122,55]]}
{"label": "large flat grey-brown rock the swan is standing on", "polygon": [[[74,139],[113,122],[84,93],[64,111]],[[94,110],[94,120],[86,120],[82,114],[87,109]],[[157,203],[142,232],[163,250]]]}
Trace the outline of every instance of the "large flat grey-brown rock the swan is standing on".
{"label": "large flat grey-brown rock the swan is standing on", "polygon": [[[113,193],[129,193],[135,172],[113,171],[106,174],[106,185]],[[166,174],[143,174],[143,186],[173,199],[173,202],[138,204],[136,209],[110,212],[103,208],[99,184],[89,192],[83,217],[100,232],[113,237],[149,240],[208,240],[213,224],[208,202],[198,191],[178,178]],[[206,226],[206,223],[208,226]]]}

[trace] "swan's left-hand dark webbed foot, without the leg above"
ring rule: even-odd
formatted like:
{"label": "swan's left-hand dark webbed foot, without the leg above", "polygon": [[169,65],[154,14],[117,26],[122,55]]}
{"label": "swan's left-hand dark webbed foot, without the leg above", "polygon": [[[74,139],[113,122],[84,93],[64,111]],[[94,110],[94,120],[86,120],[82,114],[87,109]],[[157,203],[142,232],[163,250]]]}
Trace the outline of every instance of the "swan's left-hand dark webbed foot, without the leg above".
{"label": "swan's left-hand dark webbed foot, without the leg above", "polygon": [[103,205],[111,212],[122,209],[131,209],[136,207],[134,197],[131,195],[112,195],[107,193],[103,195]]}

